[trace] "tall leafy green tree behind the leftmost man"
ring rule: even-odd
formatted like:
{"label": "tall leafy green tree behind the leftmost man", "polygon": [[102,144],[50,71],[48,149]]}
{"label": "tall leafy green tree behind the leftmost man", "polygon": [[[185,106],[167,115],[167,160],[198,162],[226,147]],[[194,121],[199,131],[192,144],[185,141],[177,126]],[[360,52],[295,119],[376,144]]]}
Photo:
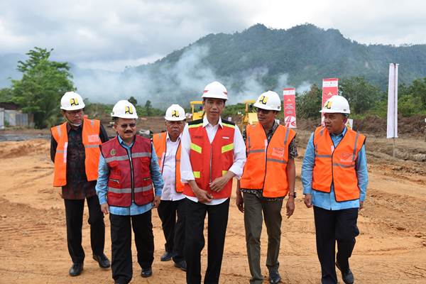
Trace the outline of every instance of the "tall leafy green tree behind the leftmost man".
{"label": "tall leafy green tree behind the leftmost man", "polygon": [[34,115],[37,128],[58,122],[60,98],[74,91],[70,66],[67,62],[49,60],[53,49],[35,47],[26,53],[29,58],[18,62],[21,80],[12,80],[14,100],[22,110]]}

